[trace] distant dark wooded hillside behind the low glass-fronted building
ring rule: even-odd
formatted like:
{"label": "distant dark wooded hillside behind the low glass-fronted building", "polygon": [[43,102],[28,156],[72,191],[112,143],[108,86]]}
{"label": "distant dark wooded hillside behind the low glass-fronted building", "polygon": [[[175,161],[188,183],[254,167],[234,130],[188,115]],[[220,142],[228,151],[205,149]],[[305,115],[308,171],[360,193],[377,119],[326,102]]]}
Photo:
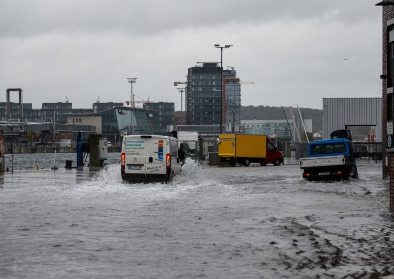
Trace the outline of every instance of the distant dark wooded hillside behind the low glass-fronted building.
{"label": "distant dark wooded hillside behind the low glass-fronted building", "polygon": [[[280,120],[286,119],[284,107],[268,106],[241,106],[241,120]],[[312,119],[312,132],[317,133],[323,130],[323,114],[321,110],[299,108],[304,119]]]}

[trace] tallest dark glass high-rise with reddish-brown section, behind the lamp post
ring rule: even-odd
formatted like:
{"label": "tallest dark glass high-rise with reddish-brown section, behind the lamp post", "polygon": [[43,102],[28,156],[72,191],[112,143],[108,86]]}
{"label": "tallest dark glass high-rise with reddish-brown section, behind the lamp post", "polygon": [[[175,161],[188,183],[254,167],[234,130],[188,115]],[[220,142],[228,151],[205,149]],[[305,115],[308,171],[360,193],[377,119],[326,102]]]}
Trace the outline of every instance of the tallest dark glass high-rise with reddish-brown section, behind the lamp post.
{"label": "tallest dark glass high-rise with reddish-brown section, behind the lamp post", "polygon": [[[219,125],[221,112],[221,67],[219,62],[198,62],[188,69],[186,124]],[[223,69],[223,124],[240,121],[241,87],[234,68]]]}

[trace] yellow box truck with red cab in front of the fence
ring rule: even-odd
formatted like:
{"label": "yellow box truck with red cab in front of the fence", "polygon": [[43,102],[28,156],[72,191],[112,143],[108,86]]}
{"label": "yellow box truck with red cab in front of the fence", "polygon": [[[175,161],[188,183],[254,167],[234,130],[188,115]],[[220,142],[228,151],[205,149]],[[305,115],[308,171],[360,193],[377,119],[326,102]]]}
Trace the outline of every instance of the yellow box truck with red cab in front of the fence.
{"label": "yellow box truck with red cab in front of the fence", "polygon": [[283,164],[282,152],[265,135],[220,134],[218,146],[220,161],[227,162],[230,166]]}

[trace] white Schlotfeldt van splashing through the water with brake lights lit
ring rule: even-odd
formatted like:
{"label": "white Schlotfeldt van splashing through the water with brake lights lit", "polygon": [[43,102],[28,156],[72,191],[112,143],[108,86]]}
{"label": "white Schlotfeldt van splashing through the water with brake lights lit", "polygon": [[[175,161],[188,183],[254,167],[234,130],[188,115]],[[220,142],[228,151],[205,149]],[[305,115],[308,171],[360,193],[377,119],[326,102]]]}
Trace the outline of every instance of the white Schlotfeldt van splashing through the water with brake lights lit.
{"label": "white Schlotfeldt van splashing through the water with brake lights lit", "polygon": [[167,136],[123,137],[121,174],[132,182],[171,181],[181,173],[177,140]]}

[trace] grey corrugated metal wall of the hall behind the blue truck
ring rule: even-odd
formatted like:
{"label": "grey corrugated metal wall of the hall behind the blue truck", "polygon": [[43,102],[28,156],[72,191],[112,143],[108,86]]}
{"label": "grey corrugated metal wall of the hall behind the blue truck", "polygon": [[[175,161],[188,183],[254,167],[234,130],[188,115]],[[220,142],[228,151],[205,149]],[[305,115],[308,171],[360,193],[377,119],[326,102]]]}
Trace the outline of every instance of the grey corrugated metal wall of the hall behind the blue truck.
{"label": "grey corrugated metal wall of the hall behind the blue truck", "polygon": [[346,125],[375,126],[376,141],[382,141],[382,98],[323,98],[323,139]]}

